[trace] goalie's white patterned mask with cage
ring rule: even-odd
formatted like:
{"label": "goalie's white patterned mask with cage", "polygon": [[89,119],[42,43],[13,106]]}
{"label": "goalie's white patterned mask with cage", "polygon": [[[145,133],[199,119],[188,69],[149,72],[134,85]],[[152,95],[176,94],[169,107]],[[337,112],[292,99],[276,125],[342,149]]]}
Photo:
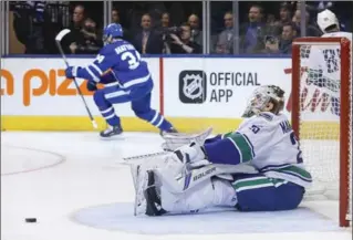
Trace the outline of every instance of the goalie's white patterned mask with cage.
{"label": "goalie's white patterned mask with cage", "polygon": [[[270,108],[272,105],[272,108]],[[260,86],[251,94],[242,117],[251,117],[261,112],[278,114],[284,106],[284,91],[279,86]]]}

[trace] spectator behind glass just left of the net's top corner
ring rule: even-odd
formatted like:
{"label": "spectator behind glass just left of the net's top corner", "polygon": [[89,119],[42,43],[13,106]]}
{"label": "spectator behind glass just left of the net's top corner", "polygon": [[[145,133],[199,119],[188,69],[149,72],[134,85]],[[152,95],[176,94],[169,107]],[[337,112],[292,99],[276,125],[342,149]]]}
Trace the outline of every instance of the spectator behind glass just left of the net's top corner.
{"label": "spectator behind glass just left of the net's top corner", "polygon": [[282,27],[282,34],[280,40],[277,38],[268,38],[266,41],[267,53],[292,53],[292,42],[297,36],[297,28],[292,23],[287,23]]}

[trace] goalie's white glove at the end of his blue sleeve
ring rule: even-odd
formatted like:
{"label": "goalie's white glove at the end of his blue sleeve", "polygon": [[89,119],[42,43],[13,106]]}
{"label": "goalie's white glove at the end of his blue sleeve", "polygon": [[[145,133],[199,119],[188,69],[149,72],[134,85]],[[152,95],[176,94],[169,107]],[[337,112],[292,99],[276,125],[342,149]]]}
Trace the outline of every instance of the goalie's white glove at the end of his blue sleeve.
{"label": "goalie's white glove at the end of his blue sleeve", "polygon": [[174,154],[184,165],[188,165],[191,168],[210,164],[207,160],[204,147],[195,142],[190,145],[179,147]]}

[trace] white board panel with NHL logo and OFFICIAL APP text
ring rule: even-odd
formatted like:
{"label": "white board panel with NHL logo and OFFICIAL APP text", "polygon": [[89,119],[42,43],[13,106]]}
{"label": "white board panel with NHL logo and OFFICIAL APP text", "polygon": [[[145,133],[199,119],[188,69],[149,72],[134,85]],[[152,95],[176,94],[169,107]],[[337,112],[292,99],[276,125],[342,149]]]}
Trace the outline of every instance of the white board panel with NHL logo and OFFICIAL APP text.
{"label": "white board panel with NHL logo and OFFICIAL APP text", "polygon": [[165,59],[165,115],[240,118],[258,86],[290,93],[290,65],[289,59]]}

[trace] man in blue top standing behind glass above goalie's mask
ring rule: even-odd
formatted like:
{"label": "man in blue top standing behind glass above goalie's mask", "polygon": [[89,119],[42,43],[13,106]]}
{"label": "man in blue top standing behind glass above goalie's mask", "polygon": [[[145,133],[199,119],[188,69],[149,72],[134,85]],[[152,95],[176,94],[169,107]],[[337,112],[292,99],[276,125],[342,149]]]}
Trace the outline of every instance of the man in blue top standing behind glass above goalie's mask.
{"label": "man in blue top standing behind glass above goalie's mask", "polygon": [[260,53],[264,48],[266,24],[262,22],[262,8],[252,6],[249,10],[249,22],[240,27],[240,51]]}

